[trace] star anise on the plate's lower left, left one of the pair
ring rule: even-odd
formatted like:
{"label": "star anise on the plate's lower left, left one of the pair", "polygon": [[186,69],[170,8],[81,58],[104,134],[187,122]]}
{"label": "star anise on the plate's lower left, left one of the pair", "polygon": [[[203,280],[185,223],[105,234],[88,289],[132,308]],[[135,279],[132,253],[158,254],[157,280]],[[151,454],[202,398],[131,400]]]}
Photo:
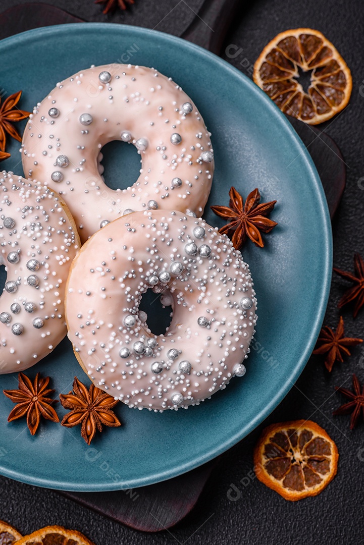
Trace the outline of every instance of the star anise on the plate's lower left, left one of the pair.
{"label": "star anise on the plate's lower left, left one of the pair", "polygon": [[41,416],[52,422],[59,422],[56,411],[51,407],[52,403],[58,403],[58,401],[48,397],[54,392],[47,389],[50,378],[41,378],[37,373],[32,381],[24,373],[19,373],[18,380],[19,390],[3,390],[5,396],[16,403],[8,416],[8,422],[27,415],[27,425],[32,435],[38,429]]}

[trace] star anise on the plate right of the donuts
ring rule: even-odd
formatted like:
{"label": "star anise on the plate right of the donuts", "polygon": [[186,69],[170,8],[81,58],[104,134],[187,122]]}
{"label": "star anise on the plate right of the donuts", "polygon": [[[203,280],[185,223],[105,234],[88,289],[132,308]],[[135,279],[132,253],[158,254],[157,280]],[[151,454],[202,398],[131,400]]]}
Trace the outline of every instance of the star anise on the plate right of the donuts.
{"label": "star anise on the plate right of the donuts", "polygon": [[254,189],[249,193],[245,204],[235,187],[230,188],[229,196],[229,207],[211,206],[211,210],[217,216],[230,220],[227,225],[219,229],[219,233],[227,234],[236,250],[239,250],[245,243],[247,237],[262,248],[264,242],[260,231],[269,233],[278,225],[275,221],[265,217],[274,209],[277,201],[259,204],[260,193],[258,189]]}

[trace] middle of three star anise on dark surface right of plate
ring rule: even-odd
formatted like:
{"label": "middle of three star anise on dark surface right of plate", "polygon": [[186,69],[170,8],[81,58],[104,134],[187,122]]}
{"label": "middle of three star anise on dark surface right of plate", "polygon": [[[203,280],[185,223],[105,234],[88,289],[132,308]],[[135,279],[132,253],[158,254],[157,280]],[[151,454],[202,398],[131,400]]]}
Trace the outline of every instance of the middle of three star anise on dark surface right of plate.
{"label": "middle of three star anise on dark surface right of plate", "polygon": [[342,363],[343,355],[350,356],[348,346],[355,346],[361,342],[363,340],[359,338],[344,337],[344,320],[340,316],[336,331],[327,325],[321,328],[313,354],[326,354],[325,367],[327,371],[331,371],[335,361]]}

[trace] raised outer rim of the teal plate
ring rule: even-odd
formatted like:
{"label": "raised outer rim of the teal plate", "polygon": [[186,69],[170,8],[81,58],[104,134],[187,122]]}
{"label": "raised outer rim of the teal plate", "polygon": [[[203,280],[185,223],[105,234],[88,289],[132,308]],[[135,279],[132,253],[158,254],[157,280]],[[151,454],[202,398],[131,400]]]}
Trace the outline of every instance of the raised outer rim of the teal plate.
{"label": "raised outer rim of the teal plate", "polygon": [[[187,48],[191,51],[196,51],[199,54],[203,54],[205,57],[214,60],[215,63],[221,66],[224,70],[228,70],[233,77],[241,78],[244,84],[247,87],[250,87],[252,93],[255,93],[259,96],[263,102],[265,102],[266,108],[270,111],[272,117],[275,117],[277,124],[282,127],[282,129],[289,135],[290,139],[294,143],[295,147],[300,152],[300,155],[304,159],[304,162],[307,166],[307,172],[310,173],[310,180],[313,189],[315,190],[315,196],[317,197],[318,208],[321,212],[321,220],[323,221],[324,231],[321,233],[324,238],[324,247],[325,252],[322,256],[322,270],[323,270],[323,286],[321,289],[320,300],[317,302],[315,318],[312,323],[310,336],[307,338],[306,349],[302,352],[300,359],[296,362],[294,370],[290,374],[289,378],[284,381],[280,389],[276,392],[275,396],[271,398],[270,402],[265,405],[264,409],[260,410],[259,413],[248,423],[240,429],[238,433],[235,433],[229,440],[226,440],[220,444],[219,448],[205,452],[203,455],[195,457],[192,461],[186,461],[184,464],[179,464],[178,467],[173,469],[168,469],[166,471],[156,471],[153,475],[147,477],[142,476],[138,479],[131,481],[120,481],[118,483],[100,483],[100,484],[91,484],[85,486],[83,483],[78,485],[73,483],[70,488],[70,483],[60,482],[60,480],[55,481],[51,479],[42,479],[41,477],[29,476],[27,474],[22,474],[21,471],[7,470],[6,468],[0,468],[1,474],[5,477],[10,477],[17,481],[27,483],[29,485],[35,485],[40,487],[52,488],[57,490],[72,490],[75,492],[106,492],[109,490],[119,490],[119,489],[128,489],[128,488],[138,488],[142,486],[153,485],[158,482],[162,482],[168,479],[173,479],[191,471],[204,463],[209,462],[211,459],[220,456],[223,452],[226,452],[236,443],[244,439],[249,433],[253,431],[260,423],[262,423],[271,412],[278,406],[278,404],[286,397],[289,390],[293,387],[295,381],[298,379],[302,371],[304,370],[308,359],[312,354],[314,344],[316,343],[321,324],[323,323],[325,311],[327,307],[327,301],[329,299],[330,285],[331,285],[331,275],[332,275],[332,259],[333,259],[333,250],[332,250],[332,231],[331,231],[331,220],[329,216],[329,209],[327,207],[327,201],[324,193],[321,180],[319,178],[316,166],[313,163],[311,155],[308,153],[307,148],[304,143],[301,141],[301,138],[298,136],[296,131],[290,125],[289,121],[286,119],[284,114],[279,110],[279,108],[274,104],[274,102],[260,89],[255,83],[253,83],[250,78],[243,74],[240,70],[236,69],[234,66],[229,64],[226,60],[218,57],[216,54],[211,53],[210,51],[204,49],[201,46],[191,43],[190,41],[184,40],[183,38],[176,37],[172,34],[166,34],[160,31],[155,31],[154,29],[132,26],[132,25],[123,25],[119,23],[100,23],[100,22],[84,22],[84,23],[65,23],[62,25],[52,25],[47,27],[38,27],[30,29],[19,34],[15,34],[8,38],[0,40],[0,50],[2,47],[8,45],[16,45],[19,41],[32,39],[33,37],[43,37],[47,34],[58,34],[59,32],[77,32],[78,29],[110,29],[110,27],[118,28],[118,31],[123,33],[134,33],[134,34],[145,34],[150,35],[152,39],[156,36],[158,40],[165,40],[169,44],[179,45],[181,47]],[[74,28],[71,31],[71,28]]]}

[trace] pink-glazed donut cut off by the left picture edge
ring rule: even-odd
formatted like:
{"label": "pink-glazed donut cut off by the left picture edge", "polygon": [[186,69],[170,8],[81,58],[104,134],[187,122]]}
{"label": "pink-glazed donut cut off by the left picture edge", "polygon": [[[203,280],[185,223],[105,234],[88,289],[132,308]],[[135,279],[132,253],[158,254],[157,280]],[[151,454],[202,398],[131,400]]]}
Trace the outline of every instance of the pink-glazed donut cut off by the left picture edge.
{"label": "pink-glazed donut cut off by the left picture edge", "polygon": [[36,364],[65,336],[64,289],[80,239],[65,203],[45,187],[4,171],[0,201],[4,374]]}

